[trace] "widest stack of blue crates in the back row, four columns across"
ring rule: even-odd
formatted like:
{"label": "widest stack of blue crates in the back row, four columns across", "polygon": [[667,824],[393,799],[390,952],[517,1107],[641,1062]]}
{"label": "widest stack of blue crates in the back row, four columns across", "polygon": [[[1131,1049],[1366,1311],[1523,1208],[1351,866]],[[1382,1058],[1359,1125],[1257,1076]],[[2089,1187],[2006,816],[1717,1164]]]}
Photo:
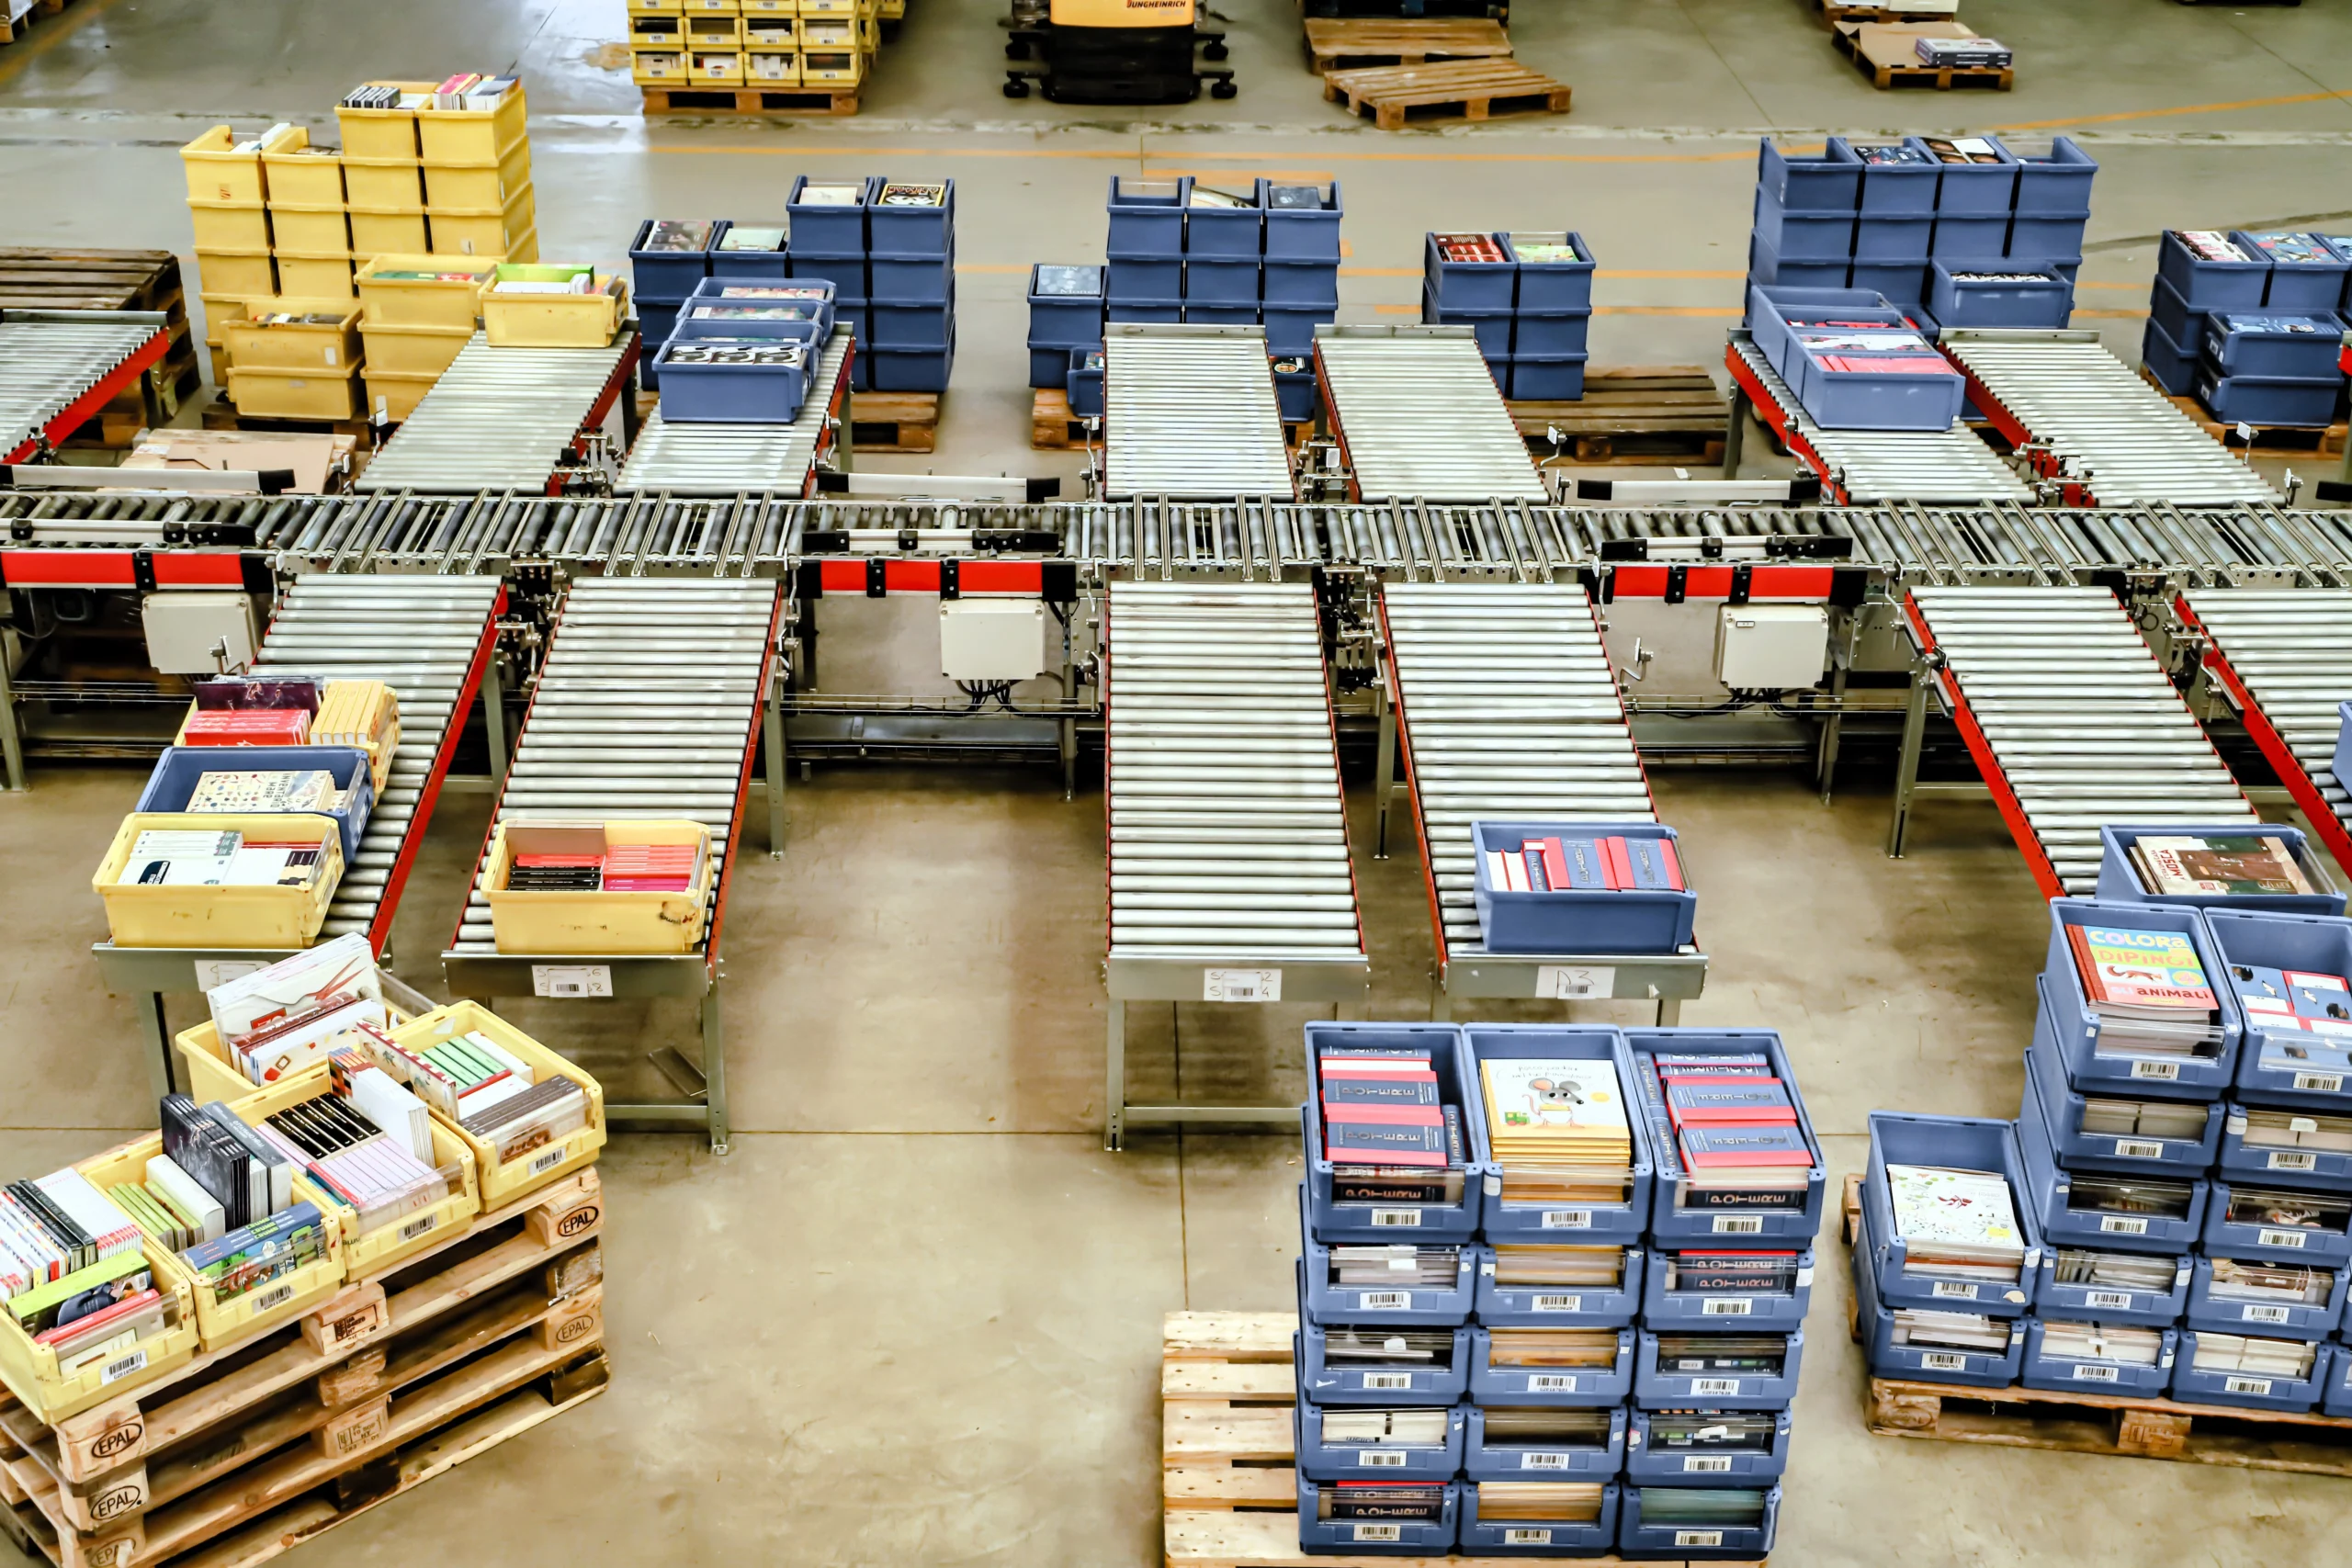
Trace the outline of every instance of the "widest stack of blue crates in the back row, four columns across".
{"label": "widest stack of blue crates in the back row, four columns across", "polygon": [[1976,141],[1999,162],[1945,165],[1922,136],[1893,148],[1830,136],[1818,158],[1790,158],[1766,141],[1748,282],[1872,289],[1919,308],[1933,261],[2009,259],[2049,266],[2072,284],[2098,165],[2065,136],[2023,158],[1992,136]]}

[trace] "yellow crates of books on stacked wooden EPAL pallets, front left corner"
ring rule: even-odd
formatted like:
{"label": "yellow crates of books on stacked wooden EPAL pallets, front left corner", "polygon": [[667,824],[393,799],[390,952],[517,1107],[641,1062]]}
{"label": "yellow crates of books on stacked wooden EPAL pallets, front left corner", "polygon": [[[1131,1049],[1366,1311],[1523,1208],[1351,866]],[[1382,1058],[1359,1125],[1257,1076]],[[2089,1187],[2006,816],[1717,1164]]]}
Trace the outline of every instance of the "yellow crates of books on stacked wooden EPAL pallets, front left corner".
{"label": "yellow crates of books on stacked wooden EPAL pallets, front left corner", "polygon": [[[475,1004],[379,1016],[388,1027],[341,1037],[358,1056],[268,1086],[240,1067],[252,1053],[200,1025],[179,1039],[193,1095],[165,1103],[176,1159],[151,1133],[38,1182],[92,1241],[59,1248],[64,1265],[96,1262],[0,1312],[0,1526],[28,1552],[59,1568],[259,1563],[602,1392],[602,1091]],[[572,1095],[576,1124],[485,1135],[433,1091],[362,1084],[463,1072],[480,1051],[562,1079],[550,1093]],[[226,1208],[230,1168],[200,1161],[191,1147],[212,1145],[186,1143],[188,1128],[242,1150],[226,1190],[275,1208],[181,1253],[216,1222],[202,1208]],[[318,1128],[365,1138],[318,1157]],[[334,1161],[374,1145],[433,1180],[365,1206],[355,1166]],[[261,1152],[289,1180],[273,1171],[247,1192],[235,1180]],[[14,1255],[42,1232],[14,1220],[35,1206],[24,1185],[9,1204]],[[259,1227],[280,1229],[280,1251],[240,1246]],[[103,1345],[80,1349],[92,1331],[40,1328],[49,1298],[99,1276],[120,1295],[118,1338],[96,1331]]]}

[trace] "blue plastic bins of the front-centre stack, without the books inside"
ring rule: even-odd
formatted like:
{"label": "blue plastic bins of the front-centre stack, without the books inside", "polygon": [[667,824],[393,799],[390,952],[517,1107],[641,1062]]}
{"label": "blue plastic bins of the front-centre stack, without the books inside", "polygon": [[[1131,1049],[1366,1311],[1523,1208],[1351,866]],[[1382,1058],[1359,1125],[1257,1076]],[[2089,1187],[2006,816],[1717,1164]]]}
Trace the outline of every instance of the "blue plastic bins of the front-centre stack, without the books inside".
{"label": "blue plastic bins of the front-centre stack, without the books inside", "polygon": [[[1301,1187],[1298,1265],[1298,1497],[1305,1552],[1437,1554],[1599,1554],[1672,1559],[1755,1559],[1773,1542],[1778,1479],[1788,1467],[1790,1399],[1804,1352],[1799,1328],[1811,1298],[1811,1237],[1820,1225],[1823,1166],[1804,1124],[1813,1166],[1785,1208],[1710,1208],[1693,1201],[1653,1056],[1766,1053],[1795,1100],[1788,1058],[1771,1032],[1613,1030],[1606,1025],[1308,1025],[1308,1060],[1327,1051],[1428,1051],[1439,1100],[1461,1112],[1468,1168],[1458,1204],[1411,1197],[1362,1201],[1334,1178],[1324,1150],[1319,1074],[1305,1110],[1308,1180]],[[1632,1135],[1632,1182],[1621,1201],[1557,1208],[1512,1201],[1484,1133],[1479,1060],[1588,1058],[1616,1067]],[[1644,1088],[1646,1086],[1646,1088]],[[1804,1117],[1802,1105],[1797,1107]],[[1661,1135],[1665,1138],[1663,1154]],[[1757,1251],[1792,1253],[1799,1267],[1780,1295],[1668,1288],[1684,1251],[1736,1237]],[[1414,1288],[1334,1284],[1334,1248],[1357,1248],[1350,1267],[1409,1279],[1449,1276]],[[1616,1284],[1522,1286],[1496,1276],[1498,1248],[1538,1260],[1536,1248],[1616,1253]],[[1451,1260],[1451,1269],[1446,1262]],[[1334,1356],[1334,1335],[1357,1342],[1409,1331],[1418,1347],[1378,1356]],[[1552,1371],[1529,1333],[1585,1333],[1613,1340],[1599,1368]],[[1693,1342],[1693,1335],[1698,1340]],[[1724,1371],[1705,1340],[1771,1340],[1776,1368]],[[1726,1352],[1752,1347],[1722,1340]],[[1501,1354],[1498,1354],[1501,1349]],[[1524,1354],[1534,1352],[1534,1354]],[[1677,1354],[1679,1352],[1679,1354]],[[1552,1363],[1557,1366],[1557,1361]],[[1334,1441],[1327,1418],[1369,1410],[1444,1413],[1442,1441]],[[1510,1413],[1505,1420],[1501,1413]],[[1710,1415],[1762,1413],[1764,1432],[1729,1441],[1696,1434]],[[1435,1425],[1435,1422],[1430,1422]],[[1543,1427],[1550,1427],[1545,1432]],[[1343,1481],[1444,1483],[1442,1521],[1322,1519],[1324,1493]],[[1482,1483],[1559,1481],[1602,1488],[1597,1519],[1479,1519]],[[1689,1497],[1705,1490],[1708,1497]],[[1489,1493],[1489,1502],[1501,1495]],[[1729,1505],[1731,1519],[1693,1519],[1689,1505]],[[1684,1505],[1684,1507],[1675,1507]],[[1644,1523],[1644,1509],[1651,1523]],[[1517,1512],[1517,1509],[1515,1509]],[[1658,1516],[1665,1523],[1658,1523]]]}

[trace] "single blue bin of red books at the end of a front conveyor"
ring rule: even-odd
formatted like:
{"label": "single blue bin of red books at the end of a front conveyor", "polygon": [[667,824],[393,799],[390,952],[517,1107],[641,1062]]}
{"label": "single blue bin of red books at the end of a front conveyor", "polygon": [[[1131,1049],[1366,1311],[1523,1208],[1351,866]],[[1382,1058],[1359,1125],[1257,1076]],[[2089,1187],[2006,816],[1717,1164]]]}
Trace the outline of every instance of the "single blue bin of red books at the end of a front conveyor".
{"label": "single blue bin of red books at the end of a front conveyor", "polygon": [[1470,823],[1489,952],[1675,952],[1698,896],[1663,823]]}

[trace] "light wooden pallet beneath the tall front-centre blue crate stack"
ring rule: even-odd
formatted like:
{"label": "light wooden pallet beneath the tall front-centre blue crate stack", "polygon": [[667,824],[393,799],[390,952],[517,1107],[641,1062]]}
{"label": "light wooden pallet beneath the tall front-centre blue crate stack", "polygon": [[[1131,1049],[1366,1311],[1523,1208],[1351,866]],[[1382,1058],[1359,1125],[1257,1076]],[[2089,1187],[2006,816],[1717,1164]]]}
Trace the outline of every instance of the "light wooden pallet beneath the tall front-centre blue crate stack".
{"label": "light wooden pallet beneath the tall front-centre blue crate stack", "polygon": [[[1294,1312],[1169,1312],[1160,1345],[1167,1568],[1461,1568],[1616,1556],[1322,1556],[1298,1549]],[[1675,1568],[1668,1563],[1668,1568]],[[1748,1568],[1762,1568],[1748,1563]]]}

